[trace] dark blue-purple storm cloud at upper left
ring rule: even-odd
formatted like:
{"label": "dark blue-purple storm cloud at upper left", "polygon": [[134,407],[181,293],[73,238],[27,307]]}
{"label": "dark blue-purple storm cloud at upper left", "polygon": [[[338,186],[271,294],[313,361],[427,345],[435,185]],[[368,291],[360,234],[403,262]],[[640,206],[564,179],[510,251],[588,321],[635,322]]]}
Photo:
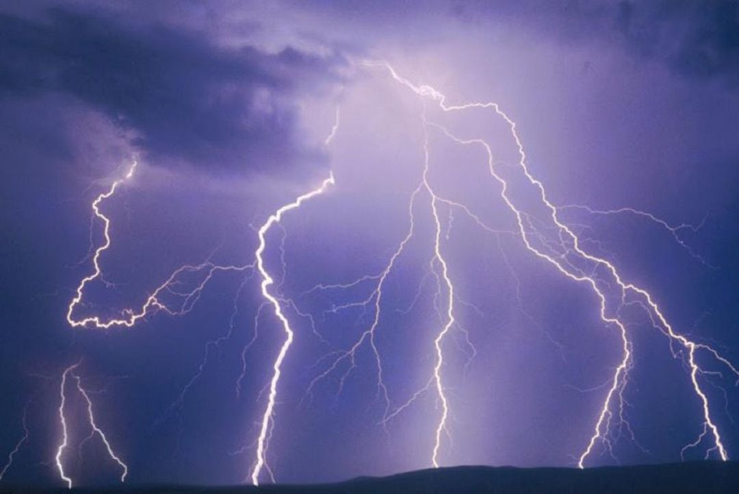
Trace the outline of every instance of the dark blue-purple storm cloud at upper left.
{"label": "dark blue-purple storm cloud at upper left", "polygon": [[295,98],[336,81],[341,65],[338,55],[225,49],[205,33],[61,9],[39,21],[0,15],[0,47],[5,98],[66,93],[132,130],[154,162],[221,170],[310,158]]}

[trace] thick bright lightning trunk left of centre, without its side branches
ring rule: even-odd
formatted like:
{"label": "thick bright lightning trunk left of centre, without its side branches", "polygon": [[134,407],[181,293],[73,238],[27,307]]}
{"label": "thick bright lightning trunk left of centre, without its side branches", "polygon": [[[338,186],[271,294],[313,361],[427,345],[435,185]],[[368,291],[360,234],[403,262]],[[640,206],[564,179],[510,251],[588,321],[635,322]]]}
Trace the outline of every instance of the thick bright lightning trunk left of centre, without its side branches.
{"label": "thick bright lightning trunk left of centre, without its side branches", "polygon": [[287,351],[290,349],[290,345],[292,345],[294,338],[293,329],[290,328],[290,321],[287,320],[287,317],[283,312],[282,305],[280,305],[280,301],[277,297],[271,294],[269,290],[269,287],[274,283],[274,280],[265,267],[264,253],[267,248],[267,232],[272,226],[282,220],[282,216],[285,213],[290,212],[293,209],[298,209],[306,200],[310,200],[317,195],[323,194],[328,187],[332,186],[334,183],[336,183],[336,181],[334,180],[332,172],[329,177],[321,183],[321,186],[319,186],[318,189],[307,192],[306,194],[299,196],[292,203],[286,204],[277,209],[277,211],[274,214],[271,214],[267,221],[259,227],[259,246],[257,246],[254,256],[256,257],[256,269],[262,277],[262,297],[265,297],[265,299],[270,302],[273,306],[275,317],[282,323],[282,329],[285,331],[285,341],[282,343],[282,347],[272,365],[273,375],[270,380],[268,402],[267,407],[265,408],[265,413],[262,416],[261,427],[259,429],[259,438],[257,439],[256,446],[256,462],[251,471],[251,482],[254,485],[259,485],[259,473],[262,471],[262,467],[265,467],[266,464],[265,455],[268,447],[268,433],[270,430],[270,424],[274,423],[274,407],[277,399],[277,385],[279,385],[279,379],[282,375],[282,362],[285,360]]}

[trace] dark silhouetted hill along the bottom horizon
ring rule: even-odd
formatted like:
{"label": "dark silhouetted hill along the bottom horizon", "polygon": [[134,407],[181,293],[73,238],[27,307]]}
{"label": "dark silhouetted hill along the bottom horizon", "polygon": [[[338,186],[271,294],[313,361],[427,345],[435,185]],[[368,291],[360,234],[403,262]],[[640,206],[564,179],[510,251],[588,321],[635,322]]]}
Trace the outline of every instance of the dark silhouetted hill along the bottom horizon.
{"label": "dark silhouetted hill along the bottom horizon", "polygon": [[[4,485],[0,493],[61,494],[63,489]],[[74,494],[739,494],[739,462],[571,468],[451,467],[337,484],[265,487],[125,486]]]}

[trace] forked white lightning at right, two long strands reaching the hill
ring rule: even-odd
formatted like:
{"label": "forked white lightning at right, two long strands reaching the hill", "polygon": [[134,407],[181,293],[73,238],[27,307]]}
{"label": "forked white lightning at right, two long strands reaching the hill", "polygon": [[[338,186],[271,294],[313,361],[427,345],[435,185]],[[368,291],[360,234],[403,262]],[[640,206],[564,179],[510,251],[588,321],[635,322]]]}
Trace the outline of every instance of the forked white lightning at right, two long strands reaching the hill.
{"label": "forked white lightning at right, two long strands reaching the hill", "polygon": [[[612,406],[612,400],[614,394],[620,394],[619,389],[622,391],[622,386],[624,385],[624,379],[625,379],[625,373],[627,373],[629,365],[630,365],[630,341],[627,336],[627,329],[623,323],[619,320],[616,316],[610,316],[608,315],[607,311],[607,296],[605,292],[602,290],[602,288],[599,287],[599,280],[596,278],[596,268],[603,268],[605,271],[607,271],[608,274],[610,274],[610,277],[613,278],[613,280],[616,281],[616,284],[619,286],[621,291],[621,304],[624,302],[625,297],[627,297],[627,294],[634,294],[636,296],[641,297],[641,300],[644,300],[646,304],[648,305],[648,308],[650,309],[650,317],[651,315],[654,315],[654,317],[659,322],[659,325],[661,327],[661,330],[669,336],[670,340],[672,342],[678,342],[680,345],[682,345],[686,350],[688,354],[687,363],[690,368],[690,382],[692,383],[692,388],[695,391],[696,396],[698,396],[698,399],[701,402],[701,405],[703,407],[703,416],[704,416],[704,434],[701,434],[701,437],[699,439],[702,439],[702,437],[705,435],[705,431],[709,430],[712,434],[712,437],[714,439],[715,449],[718,450],[719,456],[721,459],[726,460],[728,459],[728,455],[726,453],[726,448],[723,445],[723,442],[721,440],[721,435],[718,431],[718,427],[715,425],[711,418],[711,413],[709,409],[709,402],[706,394],[701,388],[701,385],[698,383],[698,373],[703,372],[701,368],[698,366],[698,364],[695,362],[695,351],[698,349],[702,349],[704,351],[707,351],[708,353],[712,354],[716,359],[719,360],[719,362],[722,362],[724,365],[727,365],[729,369],[739,376],[739,372],[736,368],[734,368],[726,359],[721,357],[717,351],[715,351],[713,348],[698,344],[695,342],[692,342],[691,340],[687,339],[685,336],[682,336],[681,334],[678,334],[674,331],[672,328],[672,325],[670,325],[669,322],[667,322],[666,317],[664,317],[664,314],[661,312],[661,309],[658,307],[658,305],[654,302],[653,296],[644,288],[640,288],[636,285],[633,285],[632,283],[624,282],[624,280],[621,279],[621,276],[619,274],[619,271],[616,269],[616,267],[610,263],[609,261],[603,259],[602,257],[597,257],[592,254],[588,254],[587,251],[580,246],[579,237],[577,237],[576,234],[573,233],[573,231],[565,224],[562,223],[561,220],[559,220],[558,217],[558,209],[552,204],[548,198],[546,197],[546,192],[543,184],[537,180],[533,175],[531,175],[531,172],[528,170],[528,166],[526,164],[526,155],[525,151],[521,142],[521,139],[518,135],[517,129],[516,129],[516,123],[511,120],[508,115],[503,112],[502,109],[498,106],[498,104],[493,102],[486,102],[486,103],[469,103],[469,104],[460,104],[460,105],[448,105],[446,104],[446,96],[443,95],[441,92],[437,91],[436,89],[428,86],[428,85],[422,85],[422,86],[415,86],[412,84],[408,79],[401,77],[398,75],[397,72],[395,72],[395,69],[393,69],[389,64],[386,62],[375,62],[375,61],[367,61],[364,62],[364,65],[368,67],[383,67],[386,69],[392,78],[398,82],[399,84],[402,84],[404,87],[407,87],[408,89],[411,89],[412,92],[415,92],[416,95],[418,95],[420,98],[430,98],[433,101],[436,101],[439,108],[443,110],[444,112],[452,112],[452,111],[458,111],[458,110],[465,110],[465,109],[493,109],[494,112],[503,118],[505,120],[506,124],[508,124],[509,129],[511,130],[511,136],[514,138],[514,141],[516,143],[518,154],[519,154],[519,162],[518,166],[520,166],[520,169],[524,173],[526,179],[529,183],[531,183],[532,186],[535,186],[539,192],[539,198],[542,201],[542,204],[548,209],[550,212],[551,221],[554,223],[554,226],[556,226],[557,231],[559,232],[559,239],[560,244],[562,248],[565,249],[565,251],[562,254],[559,254],[558,256],[554,256],[551,254],[547,254],[544,251],[541,251],[539,248],[535,247],[534,244],[531,242],[531,239],[529,235],[531,234],[531,231],[528,231],[526,229],[525,223],[528,222],[528,220],[525,221],[525,217],[528,217],[528,215],[525,214],[525,212],[522,212],[521,209],[519,209],[513,200],[508,196],[508,183],[503,179],[503,177],[500,177],[500,175],[497,174],[495,170],[493,155],[491,151],[491,146],[484,141],[483,139],[461,139],[457,138],[456,136],[452,135],[451,132],[446,130],[444,127],[439,126],[437,124],[432,124],[436,126],[438,129],[441,130],[447,137],[451,138],[453,141],[463,144],[463,145],[480,145],[483,146],[483,148],[486,150],[486,154],[488,155],[488,169],[491,173],[491,176],[494,177],[494,179],[497,181],[497,183],[501,186],[501,192],[500,196],[503,199],[503,202],[508,206],[508,209],[511,210],[511,212],[514,213],[516,219],[517,219],[517,225],[519,227],[520,235],[522,237],[522,240],[526,246],[526,248],[531,251],[533,254],[535,254],[537,257],[541,258],[542,260],[546,260],[551,265],[554,265],[554,267],[563,275],[570,278],[571,280],[575,280],[578,282],[585,282],[593,289],[596,296],[600,300],[600,317],[601,319],[608,324],[616,325],[619,328],[620,334],[621,334],[621,341],[622,341],[622,359],[619,365],[616,367],[616,371],[613,373],[613,379],[611,381],[610,388],[605,396],[605,402],[603,403],[603,406],[600,410],[598,419],[596,421],[596,427],[595,432],[593,433],[593,436],[590,438],[590,441],[588,443],[588,446],[586,447],[585,451],[582,453],[582,455],[579,457],[578,466],[584,467],[585,466],[585,459],[588,458],[590,453],[593,450],[593,446],[599,439],[603,439],[604,434],[604,424],[607,422],[607,417],[610,414],[610,407]],[[668,229],[670,229],[670,226],[668,226]],[[671,229],[672,233],[675,233],[674,229]],[[678,239],[679,241],[679,239]],[[581,271],[577,268],[574,268],[568,261],[565,261],[565,258],[569,255],[575,255],[579,260],[587,261],[590,263],[593,263],[593,268],[591,269],[591,272],[593,274],[585,274],[584,271]]]}

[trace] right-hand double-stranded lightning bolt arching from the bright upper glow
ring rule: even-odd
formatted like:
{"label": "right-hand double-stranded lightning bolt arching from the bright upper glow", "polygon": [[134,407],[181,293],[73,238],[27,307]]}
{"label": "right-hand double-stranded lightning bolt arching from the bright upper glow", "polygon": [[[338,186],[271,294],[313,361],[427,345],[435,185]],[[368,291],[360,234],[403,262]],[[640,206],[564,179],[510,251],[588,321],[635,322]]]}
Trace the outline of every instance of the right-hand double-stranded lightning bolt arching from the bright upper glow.
{"label": "right-hand double-stranded lightning bolt arching from the bright upper glow", "polygon": [[[547,252],[535,245],[536,240],[539,240],[539,243],[544,243],[545,246],[548,246],[550,250],[553,248],[551,242],[546,242],[542,234],[534,231],[535,227],[533,226],[533,223],[531,223],[530,215],[524,212],[520,207],[518,207],[515,201],[511,199],[510,194],[508,193],[509,183],[507,180],[501,177],[500,174],[497,173],[491,146],[488,142],[484,141],[481,138],[458,138],[457,136],[453,135],[452,132],[449,132],[449,130],[439,124],[432,122],[425,123],[430,126],[434,126],[436,129],[442,132],[443,135],[446,135],[447,138],[452,139],[452,141],[460,145],[483,147],[488,157],[488,170],[490,172],[490,175],[500,186],[500,197],[502,198],[503,203],[508,206],[508,209],[514,214],[516,218],[520,237],[525,247],[536,257],[539,257],[539,259],[542,259],[550,265],[554,266],[554,268],[556,268],[556,270],[565,277],[568,277],[569,279],[576,282],[582,282],[590,285],[590,288],[599,299],[599,315],[602,321],[606,325],[615,325],[616,328],[619,329],[619,334],[621,336],[621,360],[619,362],[619,365],[616,366],[616,370],[614,371],[613,378],[610,381],[610,386],[607,390],[605,400],[597,416],[593,436],[591,436],[590,441],[588,441],[587,447],[585,447],[582,455],[579,456],[578,467],[585,467],[585,461],[593,452],[593,447],[597,441],[605,441],[605,430],[607,428],[607,424],[610,423],[610,416],[612,416],[611,408],[613,407],[613,401],[616,396],[619,396],[621,399],[621,407],[623,404],[622,393],[627,382],[627,372],[630,368],[631,362],[631,342],[628,336],[627,327],[619,319],[617,315],[618,309],[616,309],[616,311],[609,311],[608,309],[607,293],[605,291],[605,288],[602,288],[607,280],[602,280],[597,275],[598,272],[602,271],[605,271],[605,274],[608,274],[610,279],[619,287],[620,294],[617,299],[620,302],[619,308],[626,302],[628,296],[638,297],[638,299],[646,305],[650,317],[654,317],[656,319],[660,330],[666,336],[668,336],[671,345],[672,342],[674,342],[678,345],[681,345],[687,351],[689,380],[690,384],[692,385],[692,389],[695,392],[695,396],[697,396],[698,401],[701,404],[704,424],[703,433],[701,433],[701,436],[699,436],[698,441],[696,441],[695,443],[691,443],[688,446],[698,444],[698,442],[701,441],[704,436],[710,434],[714,443],[712,450],[718,451],[718,454],[722,460],[728,459],[728,454],[726,453],[726,447],[724,447],[723,445],[721,434],[719,433],[718,427],[712,419],[708,397],[706,396],[706,393],[701,388],[701,385],[698,382],[698,374],[704,373],[704,371],[695,361],[695,353],[699,350],[709,353],[709,355],[717,359],[718,362],[726,365],[729,370],[732,371],[732,373],[734,373],[736,376],[739,376],[738,370],[728,360],[724,359],[717,351],[715,351],[714,348],[711,348],[708,345],[693,342],[686,336],[678,334],[678,332],[676,332],[672,328],[670,322],[667,321],[667,317],[664,316],[661,308],[659,308],[658,304],[654,300],[653,295],[650,294],[649,291],[631,282],[624,281],[621,277],[621,274],[619,274],[619,270],[616,268],[615,265],[613,265],[613,263],[610,263],[610,261],[602,257],[598,257],[585,251],[585,248],[581,246],[579,237],[565,223],[559,220],[559,209],[557,209],[556,206],[554,206],[554,204],[551,203],[550,200],[548,200],[547,194],[545,192],[545,187],[542,182],[537,180],[537,178],[535,178],[534,175],[532,175],[529,171],[528,164],[526,162],[524,147],[518,134],[516,123],[505,112],[503,112],[502,109],[500,109],[500,106],[498,106],[497,103],[473,102],[457,105],[446,104],[446,96],[443,95],[443,93],[428,85],[416,86],[415,84],[412,84],[412,82],[410,82],[408,79],[401,77],[401,75],[398,75],[398,72],[396,72],[395,69],[385,61],[364,61],[363,64],[366,67],[383,68],[384,70],[389,72],[389,75],[391,75],[394,81],[396,81],[398,84],[401,84],[403,87],[410,89],[412,92],[415,93],[415,95],[418,95],[419,98],[435,101],[439,109],[443,112],[459,112],[468,109],[492,109],[497,116],[503,118],[505,123],[508,125],[508,128],[510,129],[511,137],[514,139],[517,147],[519,155],[517,166],[525,176],[528,184],[530,186],[534,186],[537,189],[539,200],[548,211],[549,220],[551,220],[551,223],[554,225],[554,229],[556,229],[559,237],[559,253],[555,254],[553,252]],[[636,210],[630,210],[630,212],[635,211]],[[650,218],[657,221],[658,223],[660,222],[660,220],[658,220],[656,217],[650,216]],[[663,224],[663,226],[665,225],[667,225],[667,223]],[[676,235],[677,227],[671,227],[667,225],[667,229],[672,231],[672,234]],[[532,233],[532,231],[534,232]],[[681,245],[684,245],[679,237],[677,237],[677,240],[681,243]],[[570,260],[570,257],[573,259]],[[588,264],[588,269],[586,269],[585,266],[583,266],[582,268],[576,267],[576,265],[573,265],[573,263],[575,262],[580,264]]]}

